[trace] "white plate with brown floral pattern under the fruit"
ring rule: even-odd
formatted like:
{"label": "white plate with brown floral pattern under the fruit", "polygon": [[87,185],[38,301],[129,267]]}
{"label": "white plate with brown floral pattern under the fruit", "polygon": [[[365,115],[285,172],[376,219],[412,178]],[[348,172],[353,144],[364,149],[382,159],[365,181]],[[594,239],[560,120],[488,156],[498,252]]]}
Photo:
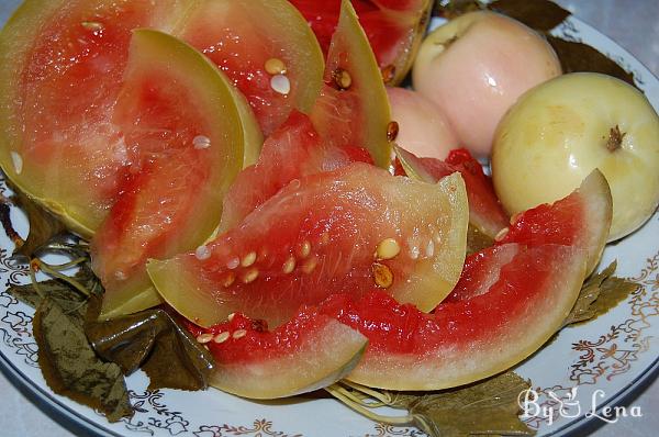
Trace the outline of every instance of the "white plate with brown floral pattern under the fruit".
{"label": "white plate with brown floral pattern under the fruit", "polygon": [[[5,18],[15,3],[1,3],[0,16]],[[574,18],[555,33],[588,42],[618,60],[634,72],[639,87],[655,108],[659,108],[659,81],[613,41]],[[5,190],[3,180],[0,189]],[[13,213],[21,222],[19,231],[24,232],[27,227],[24,217],[16,211]],[[109,424],[94,411],[54,394],[45,384],[32,338],[33,311],[4,291],[10,283],[27,282],[27,274],[23,267],[9,259],[13,246],[4,233],[0,234],[0,288],[3,289],[0,292],[0,365],[44,401],[44,405],[91,432],[197,437],[422,435],[415,428],[375,424],[332,400],[256,403],[213,389],[194,393],[149,392],[143,373],[127,379],[136,407],[134,417]],[[574,430],[593,419],[593,412],[619,402],[658,367],[659,213],[630,237],[608,246],[602,266],[613,259],[618,260],[617,274],[636,280],[641,288],[596,321],[563,329],[551,345],[516,369],[532,380],[539,394],[537,403],[546,413],[525,418],[539,435]],[[635,412],[627,410],[626,413]]]}

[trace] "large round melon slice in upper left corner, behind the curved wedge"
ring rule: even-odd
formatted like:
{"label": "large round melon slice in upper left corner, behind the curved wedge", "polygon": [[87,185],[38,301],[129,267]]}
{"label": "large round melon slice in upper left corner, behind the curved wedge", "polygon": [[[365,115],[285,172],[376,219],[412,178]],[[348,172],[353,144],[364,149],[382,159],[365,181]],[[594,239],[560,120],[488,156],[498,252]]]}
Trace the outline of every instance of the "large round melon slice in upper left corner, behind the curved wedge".
{"label": "large round melon slice in upper left corner, behind the curved wedge", "polygon": [[[99,228],[130,176],[113,110],[138,27],[198,44],[247,93],[266,131],[293,108],[309,111],[322,86],[322,52],[286,0],[25,1],[0,35],[0,165],[19,189],[85,237]],[[268,72],[270,60],[286,71]],[[272,87],[276,76],[288,92]],[[263,137],[244,107],[249,165]]]}

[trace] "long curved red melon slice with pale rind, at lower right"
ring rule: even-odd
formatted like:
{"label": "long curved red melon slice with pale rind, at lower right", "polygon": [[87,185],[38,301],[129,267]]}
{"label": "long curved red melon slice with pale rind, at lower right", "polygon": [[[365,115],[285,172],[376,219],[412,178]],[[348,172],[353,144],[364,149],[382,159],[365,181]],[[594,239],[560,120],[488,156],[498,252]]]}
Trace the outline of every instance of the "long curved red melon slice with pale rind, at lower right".
{"label": "long curved red melon slice with pale rind, at lower right", "polygon": [[348,379],[389,390],[439,390],[506,370],[560,328],[585,274],[585,253],[570,246],[513,244],[473,257],[457,284],[471,292],[433,314],[380,292],[325,302],[322,313],[369,340]]}

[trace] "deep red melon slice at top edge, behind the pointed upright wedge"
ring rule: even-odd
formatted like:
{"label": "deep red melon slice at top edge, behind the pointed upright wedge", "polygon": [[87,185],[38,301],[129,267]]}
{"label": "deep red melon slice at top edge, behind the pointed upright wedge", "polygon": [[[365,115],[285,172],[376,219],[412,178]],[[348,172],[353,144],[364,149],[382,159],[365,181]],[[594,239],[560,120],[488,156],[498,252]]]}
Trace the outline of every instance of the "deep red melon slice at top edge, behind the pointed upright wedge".
{"label": "deep red melon slice at top edge, behind the pointed upright wedge", "polygon": [[[340,0],[290,0],[306,18],[323,52],[330,52]],[[431,0],[353,0],[387,85],[403,80],[426,31]]]}

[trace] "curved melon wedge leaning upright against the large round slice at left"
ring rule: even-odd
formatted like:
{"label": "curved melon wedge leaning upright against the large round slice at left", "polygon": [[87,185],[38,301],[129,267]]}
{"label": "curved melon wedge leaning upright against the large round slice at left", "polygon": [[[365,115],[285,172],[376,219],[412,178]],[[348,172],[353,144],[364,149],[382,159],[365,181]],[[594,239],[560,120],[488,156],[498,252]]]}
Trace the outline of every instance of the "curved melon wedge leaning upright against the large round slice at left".
{"label": "curved melon wedge leaning upright against the large round slice at left", "polygon": [[190,250],[219,225],[245,149],[232,87],[186,43],[134,32],[113,116],[131,172],[91,242],[103,318],[158,303],[146,259]]}

